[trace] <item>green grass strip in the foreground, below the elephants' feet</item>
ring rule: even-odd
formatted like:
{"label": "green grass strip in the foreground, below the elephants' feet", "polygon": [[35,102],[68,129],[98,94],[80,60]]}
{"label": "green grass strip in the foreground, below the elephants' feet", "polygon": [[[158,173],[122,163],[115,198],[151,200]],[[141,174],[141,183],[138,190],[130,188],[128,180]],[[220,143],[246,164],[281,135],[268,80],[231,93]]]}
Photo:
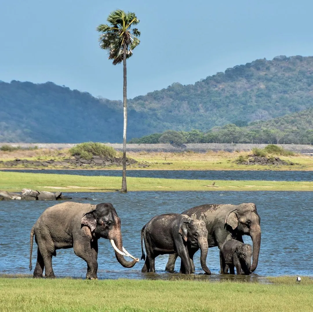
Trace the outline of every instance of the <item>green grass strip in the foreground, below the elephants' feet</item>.
{"label": "green grass strip in the foreground, below the elephants' feet", "polygon": [[[312,311],[313,283],[0,279],[1,311]],[[309,279],[308,279],[309,280]]]}

